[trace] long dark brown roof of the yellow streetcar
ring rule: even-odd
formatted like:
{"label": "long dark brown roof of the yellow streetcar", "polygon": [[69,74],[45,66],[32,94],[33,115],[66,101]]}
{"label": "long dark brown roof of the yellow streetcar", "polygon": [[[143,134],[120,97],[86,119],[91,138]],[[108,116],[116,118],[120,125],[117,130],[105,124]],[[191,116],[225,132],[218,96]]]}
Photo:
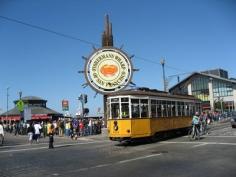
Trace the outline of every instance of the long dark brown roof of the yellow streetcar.
{"label": "long dark brown roof of the yellow streetcar", "polygon": [[159,97],[168,97],[168,98],[179,98],[179,99],[197,99],[192,95],[180,95],[180,94],[171,94],[169,92],[164,92],[156,89],[149,89],[149,88],[137,88],[137,89],[127,89],[121,90],[115,93],[110,93],[107,96],[159,96]]}

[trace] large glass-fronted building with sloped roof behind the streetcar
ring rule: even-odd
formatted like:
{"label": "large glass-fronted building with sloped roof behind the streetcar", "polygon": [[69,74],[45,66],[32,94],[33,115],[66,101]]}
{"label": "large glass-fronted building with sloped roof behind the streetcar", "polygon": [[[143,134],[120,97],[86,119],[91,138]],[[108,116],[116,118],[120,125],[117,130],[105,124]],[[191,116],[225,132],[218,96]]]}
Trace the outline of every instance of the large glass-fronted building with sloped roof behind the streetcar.
{"label": "large glass-fronted building with sloped roof behind the streetcar", "polygon": [[215,69],[194,72],[169,90],[173,94],[188,94],[202,100],[202,109],[230,112],[236,109],[236,80],[228,72]]}

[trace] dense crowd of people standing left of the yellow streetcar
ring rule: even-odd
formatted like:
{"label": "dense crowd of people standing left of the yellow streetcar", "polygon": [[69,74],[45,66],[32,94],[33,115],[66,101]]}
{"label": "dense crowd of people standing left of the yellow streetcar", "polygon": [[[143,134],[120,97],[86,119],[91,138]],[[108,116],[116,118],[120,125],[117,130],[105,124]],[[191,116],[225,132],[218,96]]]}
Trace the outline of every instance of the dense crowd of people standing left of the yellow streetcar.
{"label": "dense crowd of people standing left of the yellow streetcar", "polygon": [[[102,121],[97,119],[64,119],[55,121],[4,121],[1,123],[4,131],[13,135],[28,135],[29,142],[39,142],[40,138],[50,134],[60,137],[77,139],[80,136],[95,135],[101,133]],[[51,132],[53,130],[53,132]]]}

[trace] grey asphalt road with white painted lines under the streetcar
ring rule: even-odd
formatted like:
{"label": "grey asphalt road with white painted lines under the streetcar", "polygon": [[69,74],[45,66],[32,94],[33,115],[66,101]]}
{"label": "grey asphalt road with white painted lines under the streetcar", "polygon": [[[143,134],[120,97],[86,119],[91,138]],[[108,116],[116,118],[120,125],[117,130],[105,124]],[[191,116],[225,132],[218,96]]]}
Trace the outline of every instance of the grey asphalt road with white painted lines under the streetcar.
{"label": "grey asphalt road with white painted lines under the streetcar", "polygon": [[29,145],[27,137],[7,135],[0,147],[1,177],[235,177],[236,129],[212,126],[199,141],[186,136],[156,143],[120,144],[97,135],[55,138]]}

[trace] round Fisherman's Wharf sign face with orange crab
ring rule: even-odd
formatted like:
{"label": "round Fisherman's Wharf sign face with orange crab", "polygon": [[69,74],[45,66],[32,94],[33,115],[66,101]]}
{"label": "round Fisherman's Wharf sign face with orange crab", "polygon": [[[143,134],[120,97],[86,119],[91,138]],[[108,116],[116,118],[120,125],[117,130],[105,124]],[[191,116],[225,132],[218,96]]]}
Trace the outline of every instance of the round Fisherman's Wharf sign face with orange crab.
{"label": "round Fisherman's Wharf sign face with orange crab", "polygon": [[85,64],[85,77],[97,92],[117,92],[128,86],[133,66],[128,55],[114,47],[94,51]]}

